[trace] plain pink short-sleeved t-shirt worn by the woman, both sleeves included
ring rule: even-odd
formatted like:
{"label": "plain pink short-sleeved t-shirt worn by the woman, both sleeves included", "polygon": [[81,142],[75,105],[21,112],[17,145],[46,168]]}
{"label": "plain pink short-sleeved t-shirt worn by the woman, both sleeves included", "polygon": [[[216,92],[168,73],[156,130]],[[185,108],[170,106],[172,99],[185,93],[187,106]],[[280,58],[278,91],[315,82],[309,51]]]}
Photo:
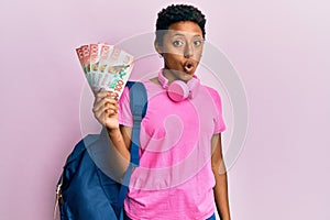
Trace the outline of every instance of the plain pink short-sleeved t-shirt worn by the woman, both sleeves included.
{"label": "plain pink short-sleeved t-shirt worn by the woman, both sleeves included", "polygon": [[[211,138],[224,131],[221,99],[201,86],[194,99],[172,101],[162,86],[143,81],[147,111],[141,123],[140,167],[124,201],[135,219],[207,219],[215,212]],[[133,127],[129,89],[120,99],[120,124]]]}

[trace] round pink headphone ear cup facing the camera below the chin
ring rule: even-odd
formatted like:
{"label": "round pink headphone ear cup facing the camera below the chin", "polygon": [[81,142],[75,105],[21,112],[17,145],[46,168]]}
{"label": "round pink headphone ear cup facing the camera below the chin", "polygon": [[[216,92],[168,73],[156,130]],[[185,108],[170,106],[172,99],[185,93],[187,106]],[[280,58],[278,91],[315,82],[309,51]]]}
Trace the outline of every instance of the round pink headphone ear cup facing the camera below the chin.
{"label": "round pink headphone ear cup facing the camera below the chin", "polygon": [[168,86],[167,95],[173,101],[179,102],[188,98],[189,88],[186,82],[175,80]]}

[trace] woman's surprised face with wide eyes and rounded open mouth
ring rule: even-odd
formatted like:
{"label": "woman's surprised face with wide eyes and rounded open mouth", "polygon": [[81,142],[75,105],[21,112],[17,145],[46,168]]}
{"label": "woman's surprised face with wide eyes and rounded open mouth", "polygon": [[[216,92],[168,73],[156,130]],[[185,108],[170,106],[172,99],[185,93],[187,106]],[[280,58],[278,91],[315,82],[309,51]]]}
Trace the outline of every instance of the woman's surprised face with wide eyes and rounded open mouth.
{"label": "woman's surprised face with wide eyes and rounded open mouth", "polygon": [[164,34],[163,44],[155,43],[164,57],[164,76],[168,81],[187,81],[194,76],[202,53],[204,37],[199,25],[191,21],[172,24]]}

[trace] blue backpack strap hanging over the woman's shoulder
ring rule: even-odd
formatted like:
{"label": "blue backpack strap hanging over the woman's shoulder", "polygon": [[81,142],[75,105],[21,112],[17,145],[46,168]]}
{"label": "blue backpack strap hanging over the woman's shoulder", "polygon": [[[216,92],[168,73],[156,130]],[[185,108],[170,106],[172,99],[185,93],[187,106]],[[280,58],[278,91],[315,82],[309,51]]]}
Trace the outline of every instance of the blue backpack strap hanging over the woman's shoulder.
{"label": "blue backpack strap hanging over the woman's shoulder", "polygon": [[123,206],[123,201],[129,191],[129,184],[133,167],[140,166],[140,130],[141,121],[145,117],[147,108],[147,95],[143,84],[139,81],[128,81],[128,87],[130,89],[130,108],[133,116],[133,129],[132,129],[132,142],[131,142],[131,160],[130,165],[125,172],[122,186],[119,191],[118,205]]}

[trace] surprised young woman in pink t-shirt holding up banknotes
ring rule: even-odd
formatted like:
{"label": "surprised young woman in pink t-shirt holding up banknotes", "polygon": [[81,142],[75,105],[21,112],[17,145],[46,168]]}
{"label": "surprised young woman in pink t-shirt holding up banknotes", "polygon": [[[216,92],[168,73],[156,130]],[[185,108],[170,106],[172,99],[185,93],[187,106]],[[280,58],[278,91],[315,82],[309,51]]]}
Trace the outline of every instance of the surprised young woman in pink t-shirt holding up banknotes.
{"label": "surprised young woman in pink t-shirt holding up banknotes", "polygon": [[[230,219],[221,99],[195,75],[205,23],[191,6],[169,6],[158,13],[154,45],[164,67],[158,77],[142,81],[148,106],[141,123],[140,167],[124,202],[127,219],[216,219],[215,201],[220,218]],[[110,92],[97,94],[94,106],[112,147],[127,161],[133,127],[129,105],[125,89],[119,101]]]}

